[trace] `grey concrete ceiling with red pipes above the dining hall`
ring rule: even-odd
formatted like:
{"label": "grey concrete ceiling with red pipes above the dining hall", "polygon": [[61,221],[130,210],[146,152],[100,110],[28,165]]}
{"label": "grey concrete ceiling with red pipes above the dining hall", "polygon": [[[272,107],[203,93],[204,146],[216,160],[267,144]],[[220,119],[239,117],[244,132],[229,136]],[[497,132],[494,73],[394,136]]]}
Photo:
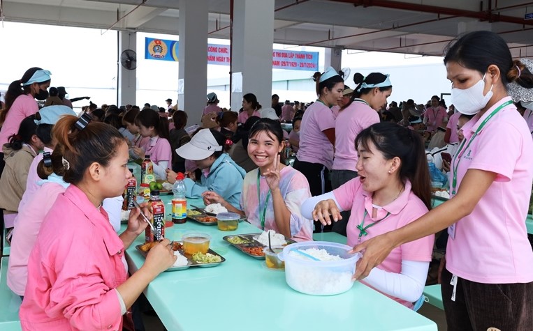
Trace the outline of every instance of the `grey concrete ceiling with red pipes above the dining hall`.
{"label": "grey concrete ceiling with red pipes above the dining hall", "polygon": [[[179,34],[178,0],[0,3],[6,21]],[[207,3],[209,37],[228,39],[231,0]],[[524,20],[533,1],[275,0],[275,8],[275,43],[439,56],[459,33],[483,29],[499,33],[514,57],[533,57],[533,20]]]}

